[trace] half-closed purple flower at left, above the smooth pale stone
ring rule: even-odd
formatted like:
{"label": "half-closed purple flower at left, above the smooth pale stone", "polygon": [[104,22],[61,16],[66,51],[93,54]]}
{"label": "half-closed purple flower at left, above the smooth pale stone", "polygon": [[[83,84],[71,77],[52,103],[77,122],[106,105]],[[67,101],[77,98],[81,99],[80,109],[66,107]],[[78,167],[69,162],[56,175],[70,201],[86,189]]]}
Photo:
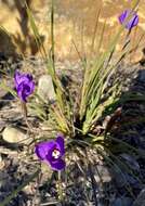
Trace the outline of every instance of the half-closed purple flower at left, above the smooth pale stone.
{"label": "half-closed purple flower at left, above the smooth pale stone", "polygon": [[27,98],[35,90],[35,82],[32,76],[29,74],[21,74],[18,70],[14,74],[15,88],[17,95],[23,102],[27,102]]}

